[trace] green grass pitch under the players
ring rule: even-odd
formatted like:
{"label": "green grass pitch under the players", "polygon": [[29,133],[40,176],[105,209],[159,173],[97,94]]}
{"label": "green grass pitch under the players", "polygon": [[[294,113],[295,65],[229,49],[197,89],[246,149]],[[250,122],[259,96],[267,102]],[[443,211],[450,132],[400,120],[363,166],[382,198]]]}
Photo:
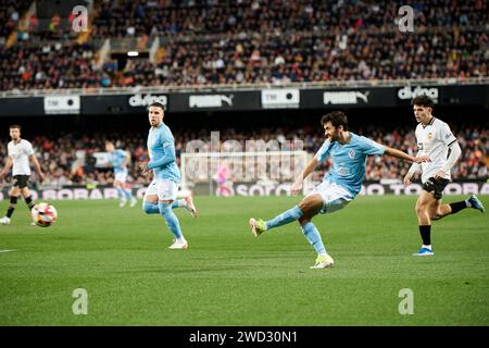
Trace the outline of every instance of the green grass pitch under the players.
{"label": "green grass pitch under the players", "polygon": [[[336,265],[310,270],[315,253],[297,223],[258,239],[248,226],[298,199],[197,197],[200,217],[176,212],[187,251],[168,250],[162,217],[139,206],[55,201],[59,221],[41,228],[20,204],[0,226],[0,250],[13,250],[0,252],[0,325],[489,324],[489,213],[435,222],[435,256],[414,258],[416,197],[358,197],[315,217]],[[72,311],[76,288],[87,315]],[[413,314],[399,312],[404,288]]]}

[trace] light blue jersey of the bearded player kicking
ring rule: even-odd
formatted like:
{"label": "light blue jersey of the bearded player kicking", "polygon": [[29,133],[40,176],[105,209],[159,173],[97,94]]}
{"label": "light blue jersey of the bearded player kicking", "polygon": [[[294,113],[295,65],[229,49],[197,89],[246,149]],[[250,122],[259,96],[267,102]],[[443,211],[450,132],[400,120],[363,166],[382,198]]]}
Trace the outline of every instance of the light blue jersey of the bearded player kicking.
{"label": "light blue jersey of the bearded player kicking", "polygon": [[350,142],[324,141],[315,154],[319,162],[331,157],[333,169],[324,175],[324,181],[338,184],[356,196],[362,189],[365,163],[368,154],[384,154],[386,148],[363,136],[350,132]]}

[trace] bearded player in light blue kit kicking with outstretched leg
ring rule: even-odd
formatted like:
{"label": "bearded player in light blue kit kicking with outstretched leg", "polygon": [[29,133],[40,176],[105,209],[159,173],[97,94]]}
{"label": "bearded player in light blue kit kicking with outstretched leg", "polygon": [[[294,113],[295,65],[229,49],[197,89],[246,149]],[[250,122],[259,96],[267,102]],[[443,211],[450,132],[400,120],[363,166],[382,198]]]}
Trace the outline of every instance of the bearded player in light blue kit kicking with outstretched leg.
{"label": "bearded player in light blue kit kicking with outstretched leg", "polygon": [[275,219],[263,221],[252,217],[249,222],[251,232],[258,237],[265,231],[298,220],[302,233],[317,252],[316,262],[311,269],[325,269],[335,263],[326,252],[319,232],[311,220],[318,213],[331,213],[342,209],[355,198],[362,188],[368,154],[389,154],[416,163],[428,161],[426,157],[414,158],[349,132],[347,115],[341,111],[328,113],[323,116],[321,123],[326,140],[293,183],[292,195],[300,192],[303,179],[327,157],[333,160],[333,169],[298,206]]}

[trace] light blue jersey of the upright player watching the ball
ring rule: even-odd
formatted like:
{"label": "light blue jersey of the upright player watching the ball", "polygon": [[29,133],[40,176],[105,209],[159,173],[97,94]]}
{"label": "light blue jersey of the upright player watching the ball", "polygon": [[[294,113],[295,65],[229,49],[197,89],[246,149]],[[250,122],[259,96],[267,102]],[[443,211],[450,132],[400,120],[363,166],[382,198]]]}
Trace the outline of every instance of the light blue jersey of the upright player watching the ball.
{"label": "light blue jersey of the upright player watching the ball", "polygon": [[148,151],[151,162],[170,158],[171,162],[153,167],[156,178],[164,178],[175,183],[180,182],[180,171],[176,164],[175,138],[172,130],[163,122],[159,127],[151,127],[148,134]]}

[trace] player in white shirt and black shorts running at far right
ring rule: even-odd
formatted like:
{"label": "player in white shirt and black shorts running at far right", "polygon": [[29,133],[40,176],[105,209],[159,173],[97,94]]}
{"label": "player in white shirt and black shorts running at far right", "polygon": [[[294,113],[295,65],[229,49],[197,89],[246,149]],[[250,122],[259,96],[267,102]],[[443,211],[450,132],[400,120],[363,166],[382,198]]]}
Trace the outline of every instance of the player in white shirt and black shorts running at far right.
{"label": "player in white shirt and black shorts running at far right", "polygon": [[412,105],[419,122],[415,132],[417,156],[427,156],[430,162],[413,163],[404,177],[404,185],[410,185],[413,175],[422,172],[423,191],[416,202],[416,215],[423,246],[414,256],[432,256],[431,220],[442,219],[465,208],[481,212],[485,209],[475,195],[460,202],[441,203],[443,189],[451,179],[450,170],[462,151],[449,125],[431,115],[434,101],[429,97],[418,96],[413,99]]}

